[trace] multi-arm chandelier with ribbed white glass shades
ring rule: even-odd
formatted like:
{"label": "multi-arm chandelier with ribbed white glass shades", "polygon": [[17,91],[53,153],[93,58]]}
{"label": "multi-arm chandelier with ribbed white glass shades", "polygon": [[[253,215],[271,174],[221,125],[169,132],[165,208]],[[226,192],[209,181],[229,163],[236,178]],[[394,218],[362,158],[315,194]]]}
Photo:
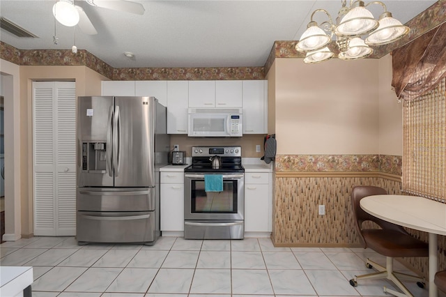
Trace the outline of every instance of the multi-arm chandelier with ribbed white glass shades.
{"label": "multi-arm chandelier with ribbed white glass shades", "polygon": [[[408,26],[404,26],[392,17],[392,13],[387,11],[385,4],[381,1],[364,5],[364,1],[351,0],[349,7],[346,6],[346,0],[341,2],[342,8],[337,15],[336,24],[325,9],[317,9],[312,13],[307,30],[295,46],[299,52],[306,53],[305,63],[318,63],[331,59],[334,53],[328,45],[332,42],[333,36],[339,48],[338,58],[355,60],[371,55],[373,50],[370,46],[393,43],[410,31]],[[366,7],[371,4],[383,6],[384,13],[380,15],[379,20],[375,20],[371,12],[367,10]],[[328,20],[318,26],[318,23],[313,20],[316,13],[325,13]]]}

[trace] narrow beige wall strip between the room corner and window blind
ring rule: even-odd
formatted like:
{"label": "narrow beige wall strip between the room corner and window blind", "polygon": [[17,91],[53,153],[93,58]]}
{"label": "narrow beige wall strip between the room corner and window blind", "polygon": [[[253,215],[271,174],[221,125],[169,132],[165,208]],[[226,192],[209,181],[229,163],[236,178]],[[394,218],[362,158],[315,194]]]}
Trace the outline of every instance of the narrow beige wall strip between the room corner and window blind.
{"label": "narrow beige wall strip between the room corner and window blind", "polygon": [[392,56],[379,59],[379,153],[403,155],[402,103],[392,90]]}

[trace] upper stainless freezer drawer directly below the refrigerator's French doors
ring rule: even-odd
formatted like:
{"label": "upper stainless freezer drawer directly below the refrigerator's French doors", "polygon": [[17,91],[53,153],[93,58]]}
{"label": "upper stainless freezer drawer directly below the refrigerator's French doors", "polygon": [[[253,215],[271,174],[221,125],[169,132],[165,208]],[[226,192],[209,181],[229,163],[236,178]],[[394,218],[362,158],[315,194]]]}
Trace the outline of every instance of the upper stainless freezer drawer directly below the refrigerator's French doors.
{"label": "upper stainless freezer drawer directly below the refrigerator's French doors", "polygon": [[155,211],[155,188],[77,188],[77,211]]}

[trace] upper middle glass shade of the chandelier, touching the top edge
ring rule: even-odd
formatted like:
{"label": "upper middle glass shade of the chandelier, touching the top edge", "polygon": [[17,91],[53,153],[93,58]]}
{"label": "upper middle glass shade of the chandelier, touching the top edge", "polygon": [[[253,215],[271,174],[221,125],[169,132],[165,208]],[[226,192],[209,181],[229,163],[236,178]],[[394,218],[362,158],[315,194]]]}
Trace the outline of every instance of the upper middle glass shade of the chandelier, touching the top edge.
{"label": "upper middle glass shade of the chandelier, touching the top edge", "polygon": [[334,33],[339,36],[360,36],[370,33],[378,27],[378,21],[374,15],[364,7],[363,1],[353,3],[355,7],[342,18]]}

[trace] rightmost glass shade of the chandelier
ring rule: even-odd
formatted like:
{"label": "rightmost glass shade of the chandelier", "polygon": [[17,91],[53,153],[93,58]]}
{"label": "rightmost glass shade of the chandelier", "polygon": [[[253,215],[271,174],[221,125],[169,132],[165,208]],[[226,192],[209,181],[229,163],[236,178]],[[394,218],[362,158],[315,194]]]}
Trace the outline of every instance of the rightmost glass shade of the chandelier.
{"label": "rightmost glass shade of the chandelier", "polygon": [[399,20],[392,17],[392,13],[385,12],[380,15],[378,29],[373,31],[365,40],[368,45],[385,45],[393,43],[406,36],[410,29]]}

